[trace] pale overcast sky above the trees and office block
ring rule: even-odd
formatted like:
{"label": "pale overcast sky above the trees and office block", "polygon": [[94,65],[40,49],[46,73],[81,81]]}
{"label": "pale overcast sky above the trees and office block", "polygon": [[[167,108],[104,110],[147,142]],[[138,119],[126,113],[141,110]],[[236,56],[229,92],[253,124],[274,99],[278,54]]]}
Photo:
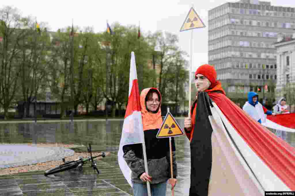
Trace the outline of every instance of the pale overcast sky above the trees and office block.
{"label": "pale overcast sky above the trees and office block", "polygon": [[[208,11],[226,2],[238,0],[50,0],[24,1],[2,0],[3,6],[15,6],[24,16],[37,17],[37,21],[48,23],[51,31],[70,26],[94,27],[95,32],[106,30],[106,20],[112,25],[138,25],[142,33],[157,30],[169,31],[179,37],[179,46],[190,54],[191,31],[179,32],[186,15],[194,4],[205,28],[194,29],[193,71],[204,63],[208,63]],[[267,1],[267,0],[265,0]],[[271,5],[295,7],[294,0],[271,0]],[[136,55],[136,54],[135,54]]]}

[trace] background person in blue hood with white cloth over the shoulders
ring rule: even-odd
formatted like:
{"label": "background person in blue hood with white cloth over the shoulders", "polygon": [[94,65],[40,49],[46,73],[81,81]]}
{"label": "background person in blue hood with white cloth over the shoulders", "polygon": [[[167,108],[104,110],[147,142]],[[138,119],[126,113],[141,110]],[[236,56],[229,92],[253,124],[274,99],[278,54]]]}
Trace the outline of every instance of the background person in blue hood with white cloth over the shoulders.
{"label": "background person in blue hood with white cloth over the shoulders", "polygon": [[266,121],[266,115],[276,115],[258,102],[258,94],[253,91],[248,93],[248,101],[243,106],[243,110],[260,124]]}

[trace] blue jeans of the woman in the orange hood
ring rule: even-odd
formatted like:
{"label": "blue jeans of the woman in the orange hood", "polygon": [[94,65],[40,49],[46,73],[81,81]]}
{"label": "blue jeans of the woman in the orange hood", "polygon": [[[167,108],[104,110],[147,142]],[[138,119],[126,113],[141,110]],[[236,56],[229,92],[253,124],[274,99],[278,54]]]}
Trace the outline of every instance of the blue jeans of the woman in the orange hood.
{"label": "blue jeans of the woman in the orange hood", "polygon": [[[134,196],[148,196],[148,189],[146,184],[134,183],[133,185],[133,193]],[[158,184],[150,184],[150,191],[152,196],[165,196],[167,188],[167,181],[160,182]]]}

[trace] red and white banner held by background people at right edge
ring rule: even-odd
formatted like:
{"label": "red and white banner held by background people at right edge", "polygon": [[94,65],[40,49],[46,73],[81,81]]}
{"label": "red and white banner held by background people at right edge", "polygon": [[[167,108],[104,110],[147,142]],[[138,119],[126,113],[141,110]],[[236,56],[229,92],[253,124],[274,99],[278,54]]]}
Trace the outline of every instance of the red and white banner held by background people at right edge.
{"label": "red and white banner held by background people at right edge", "polygon": [[295,132],[295,113],[267,115],[263,126],[280,131]]}

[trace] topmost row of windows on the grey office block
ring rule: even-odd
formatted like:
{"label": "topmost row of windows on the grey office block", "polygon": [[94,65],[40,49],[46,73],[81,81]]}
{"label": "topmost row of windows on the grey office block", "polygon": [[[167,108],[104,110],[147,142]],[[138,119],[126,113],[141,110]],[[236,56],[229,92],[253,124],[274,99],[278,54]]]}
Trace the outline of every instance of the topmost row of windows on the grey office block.
{"label": "topmost row of windows on the grey office block", "polygon": [[227,13],[295,18],[295,13],[284,12],[284,11],[268,11],[268,10],[259,10],[259,9],[224,7],[224,8],[217,9],[217,10],[213,11],[213,13],[212,13],[212,11],[209,11],[209,20],[218,18],[219,16],[222,16]]}

